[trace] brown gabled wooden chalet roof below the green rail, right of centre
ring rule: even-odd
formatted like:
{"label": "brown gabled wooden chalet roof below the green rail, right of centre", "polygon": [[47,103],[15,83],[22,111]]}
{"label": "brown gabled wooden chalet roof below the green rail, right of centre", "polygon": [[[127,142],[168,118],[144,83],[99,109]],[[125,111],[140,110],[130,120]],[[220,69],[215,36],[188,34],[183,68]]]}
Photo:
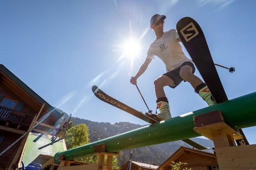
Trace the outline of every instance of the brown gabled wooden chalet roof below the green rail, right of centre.
{"label": "brown gabled wooden chalet roof below the green rail, right of centre", "polygon": [[187,163],[186,165],[181,166],[181,169],[191,168],[192,170],[219,170],[215,154],[183,146],[163,162],[157,170],[171,170],[172,167],[170,164],[172,164],[172,161]]}

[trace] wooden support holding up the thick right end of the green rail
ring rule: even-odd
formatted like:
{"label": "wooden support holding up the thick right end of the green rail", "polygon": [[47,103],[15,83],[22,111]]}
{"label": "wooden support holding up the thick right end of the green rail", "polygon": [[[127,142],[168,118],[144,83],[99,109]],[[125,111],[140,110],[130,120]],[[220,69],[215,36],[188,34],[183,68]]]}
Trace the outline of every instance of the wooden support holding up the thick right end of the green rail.
{"label": "wooden support holding up the thick right end of the green rail", "polygon": [[243,136],[227,125],[219,110],[194,117],[194,131],[213,140],[220,170],[256,168],[256,144],[240,145]]}

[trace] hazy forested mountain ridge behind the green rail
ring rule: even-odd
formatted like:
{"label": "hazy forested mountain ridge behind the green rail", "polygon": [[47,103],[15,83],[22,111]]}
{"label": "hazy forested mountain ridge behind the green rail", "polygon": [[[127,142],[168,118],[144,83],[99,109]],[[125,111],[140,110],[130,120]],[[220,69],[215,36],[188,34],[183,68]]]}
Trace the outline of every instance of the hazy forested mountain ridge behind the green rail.
{"label": "hazy forested mountain ridge behind the green rail", "polygon": [[[129,122],[117,122],[110,124],[109,122],[94,122],[87,119],[81,119],[72,117],[72,126],[79,125],[81,123],[86,124],[89,128],[88,134],[90,142],[98,141],[110,136],[115,136],[124,132],[128,132],[143,125],[133,124]],[[193,141],[205,146],[205,147],[214,147],[212,141],[203,138],[192,138]],[[150,145],[140,148],[135,148],[133,154],[133,161],[160,165],[166,159],[168,159],[174,152],[176,152],[181,146],[192,148],[189,144],[184,143],[183,141],[174,141],[164,144]],[[205,152],[212,153],[212,150],[206,150]],[[129,150],[121,151],[118,156],[119,166],[126,163],[129,160]]]}

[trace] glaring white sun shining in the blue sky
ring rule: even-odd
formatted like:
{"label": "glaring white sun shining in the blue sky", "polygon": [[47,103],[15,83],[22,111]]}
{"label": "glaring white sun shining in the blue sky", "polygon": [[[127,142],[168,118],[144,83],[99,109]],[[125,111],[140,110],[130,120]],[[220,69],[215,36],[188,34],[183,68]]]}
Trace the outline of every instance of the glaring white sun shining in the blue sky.
{"label": "glaring white sun shining in the blue sky", "polygon": [[131,37],[122,43],[121,49],[123,56],[126,58],[133,59],[138,57],[141,52],[140,41]]}

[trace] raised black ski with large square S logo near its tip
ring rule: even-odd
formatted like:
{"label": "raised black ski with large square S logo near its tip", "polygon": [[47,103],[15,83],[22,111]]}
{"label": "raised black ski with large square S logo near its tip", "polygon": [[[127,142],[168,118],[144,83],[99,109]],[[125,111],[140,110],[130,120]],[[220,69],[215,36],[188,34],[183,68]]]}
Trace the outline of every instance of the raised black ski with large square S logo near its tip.
{"label": "raised black ski with large square S logo near its tip", "polygon": [[[228,101],[228,97],[221,84],[218,72],[210,54],[205,36],[199,24],[191,17],[183,17],[176,25],[179,37],[200,72],[217,103]],[[242,129],[239,129],[243,135]],[[244,136],[244,135],[243,135]],[[245,140],[236,140],[238,145],[248,144]]]}

